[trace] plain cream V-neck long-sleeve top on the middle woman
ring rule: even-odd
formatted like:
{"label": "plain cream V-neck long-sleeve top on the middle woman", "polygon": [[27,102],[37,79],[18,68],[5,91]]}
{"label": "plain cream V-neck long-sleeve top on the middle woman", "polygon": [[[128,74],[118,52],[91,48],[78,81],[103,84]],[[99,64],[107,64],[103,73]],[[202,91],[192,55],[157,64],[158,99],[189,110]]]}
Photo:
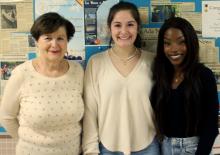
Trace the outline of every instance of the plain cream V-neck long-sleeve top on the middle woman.
{"label": "plain cream V-neck long-sleeve top on the middle woman", "polygon": [[124,77],[112,64],[108,51],[91,57],[84,81],[84,154],[98,154],[99,142],[124,154],[142,150],[152,142],[152,60],[151,53],[142,51],[134,69]]}

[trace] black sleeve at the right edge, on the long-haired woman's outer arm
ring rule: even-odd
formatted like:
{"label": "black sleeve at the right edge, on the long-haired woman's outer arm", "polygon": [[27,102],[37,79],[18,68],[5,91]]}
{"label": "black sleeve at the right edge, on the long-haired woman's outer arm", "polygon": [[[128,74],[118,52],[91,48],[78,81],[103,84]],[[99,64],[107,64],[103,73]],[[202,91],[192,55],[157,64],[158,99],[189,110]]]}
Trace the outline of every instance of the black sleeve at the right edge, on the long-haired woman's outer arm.
{"label": "black sleeve at the right edge, on the long-haired woman's outer arm", "polygon": [[209,155],[218,135],[218,95],[214,75],[205,69],[202,73],[204,94],[202,98],[203,120],[196,155]]}

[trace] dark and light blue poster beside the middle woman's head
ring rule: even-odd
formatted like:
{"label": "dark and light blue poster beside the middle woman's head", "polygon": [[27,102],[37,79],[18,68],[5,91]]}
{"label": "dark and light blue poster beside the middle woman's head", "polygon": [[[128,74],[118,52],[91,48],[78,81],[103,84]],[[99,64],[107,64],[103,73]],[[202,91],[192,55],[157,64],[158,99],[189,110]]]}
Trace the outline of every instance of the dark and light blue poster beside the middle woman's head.
{"label": "dark and light blue poster beside the middle woman's head", "polygon": [[109,30],[107,17],[109,9],[119,0],[84,1],[86,45],[107,45]]}

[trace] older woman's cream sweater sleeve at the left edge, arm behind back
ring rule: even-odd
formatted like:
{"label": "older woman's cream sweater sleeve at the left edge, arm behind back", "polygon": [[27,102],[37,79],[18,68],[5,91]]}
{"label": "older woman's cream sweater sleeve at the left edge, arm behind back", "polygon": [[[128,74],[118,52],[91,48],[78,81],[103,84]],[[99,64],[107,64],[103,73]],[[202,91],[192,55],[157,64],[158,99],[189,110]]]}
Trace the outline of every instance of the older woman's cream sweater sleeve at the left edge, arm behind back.
{"label": "older woman's cream sweater sleeve at the left edge, arm behind back", "polygon": [[23,83],[22,74],[19,67],[12,71],[12,75],[6,83],[0,107],[0,122],[13,138],[18,137],[17,116],[20,107],[20,87]]}

